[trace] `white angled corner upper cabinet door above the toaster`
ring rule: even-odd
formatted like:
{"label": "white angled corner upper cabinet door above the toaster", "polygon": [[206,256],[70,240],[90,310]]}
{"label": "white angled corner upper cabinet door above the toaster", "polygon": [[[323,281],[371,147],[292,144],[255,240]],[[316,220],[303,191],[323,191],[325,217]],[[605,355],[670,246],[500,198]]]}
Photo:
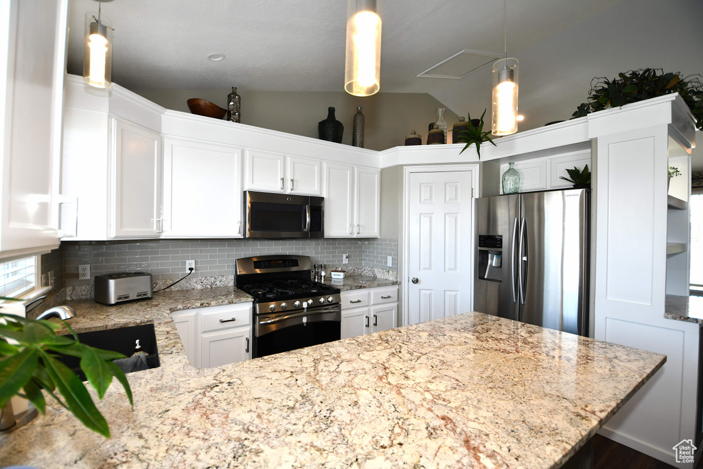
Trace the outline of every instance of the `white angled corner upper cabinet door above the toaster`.
{"label": "white angled corner upper cabinet door above the toaster", "polygon": [[157,238],[160,224],[161,136],[155,131],[112,119],[113,238]]}

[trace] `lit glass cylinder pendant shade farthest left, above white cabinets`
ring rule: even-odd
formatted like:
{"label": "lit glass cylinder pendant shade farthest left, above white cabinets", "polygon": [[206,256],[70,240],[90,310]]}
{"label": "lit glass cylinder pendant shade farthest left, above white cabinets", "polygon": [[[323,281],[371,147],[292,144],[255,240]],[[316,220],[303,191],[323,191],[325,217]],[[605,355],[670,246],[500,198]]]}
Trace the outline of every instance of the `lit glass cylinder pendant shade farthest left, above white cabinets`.
{"label": "lit glass cylinder pendant shade farthest left, above white cabinets", "polygon": [[83,81],[96,88],[112,85],[112,22],[96,11],[86,13]]}

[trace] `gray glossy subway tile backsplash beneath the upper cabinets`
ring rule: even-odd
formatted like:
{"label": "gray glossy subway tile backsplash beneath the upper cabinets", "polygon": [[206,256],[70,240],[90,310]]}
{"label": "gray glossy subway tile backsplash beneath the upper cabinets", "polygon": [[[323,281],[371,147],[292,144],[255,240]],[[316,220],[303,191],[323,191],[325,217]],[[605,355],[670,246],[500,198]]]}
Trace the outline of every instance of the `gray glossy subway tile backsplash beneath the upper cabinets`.
{"label": "gray glossy subway tile backsplash beneath the upper cabinets", "polygon": [[[91,277],[139,269],[150,272],[154,280],[166,280],[184,276],[186,260],[190,259],[195,260],[191,277],[229,276],[234,274],[235,259],[275,253],[309,255],[314,263],[330,267],[342,266],[343,254],[349,254],[345,267],[396,270],[398,266],[396,238],[68,241],[42,256],[42,264],[53,266],[60,288],[92,283],[78,279],[81,264],[90,264]],[[390,267],[387,256],[392,256]]]}

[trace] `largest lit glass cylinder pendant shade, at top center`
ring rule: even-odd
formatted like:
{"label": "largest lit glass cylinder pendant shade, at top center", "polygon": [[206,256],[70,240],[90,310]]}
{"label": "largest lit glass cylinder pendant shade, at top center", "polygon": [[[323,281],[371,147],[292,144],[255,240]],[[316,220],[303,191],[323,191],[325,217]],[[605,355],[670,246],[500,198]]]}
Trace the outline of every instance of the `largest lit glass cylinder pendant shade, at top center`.
{"label": "largest lit glass cylinder pendant shade, at top center", "polygon": [[344,90],[354,96],[378,93],[381,70],[381,18],[376,0],[348,0]]}

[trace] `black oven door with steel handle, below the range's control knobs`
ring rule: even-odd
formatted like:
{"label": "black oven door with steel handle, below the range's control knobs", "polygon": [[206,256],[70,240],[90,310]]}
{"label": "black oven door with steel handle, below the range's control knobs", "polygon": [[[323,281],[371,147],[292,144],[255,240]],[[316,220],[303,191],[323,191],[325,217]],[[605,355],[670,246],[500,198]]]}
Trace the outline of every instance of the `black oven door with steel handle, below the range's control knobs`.
{"label": "black oven door with steel handle, below the range's control knobs", "polygon": [[256,314],[252,358],[340,340],[341,326],[340,304],[290,313]]}

